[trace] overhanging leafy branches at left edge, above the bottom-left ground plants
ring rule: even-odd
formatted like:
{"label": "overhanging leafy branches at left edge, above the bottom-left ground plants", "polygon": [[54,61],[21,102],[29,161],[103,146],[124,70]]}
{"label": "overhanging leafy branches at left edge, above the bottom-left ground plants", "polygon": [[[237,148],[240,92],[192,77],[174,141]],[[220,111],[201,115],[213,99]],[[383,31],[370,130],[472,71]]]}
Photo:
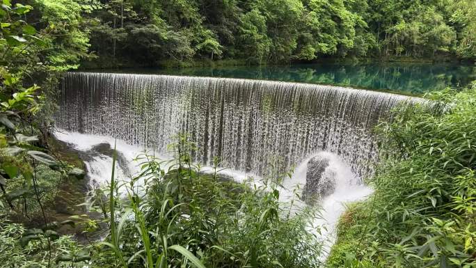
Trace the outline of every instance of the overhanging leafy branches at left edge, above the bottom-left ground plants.
{"label": "overhanging leafy branches at left edge, above the bottom-left ground plants", "polygon": [[[40,61],[40,58],[45,56],[43,53],[53,49],[54,44],[60,46],[57,44],[57,37],[49,33],[54,28],[53,18],[61,19],[66,25],[72,23],[68,13],[75,14],[77,18],[80,18],[80,14],[78,10],[72,9],[72,6],[64,6],[61,2],[41,1],[41,3],[44,5],[43,17],[47,17],[49,21],[47,29],[35,29],[24,20],[27,15],[33,13],[33,6],[24,6],[21,3],[12,6],[10,1],[3,1],[0,13],[0,40],[3,40],[0,42],[0,51],[3,56],[1,61],[4,63],[0,67],[0,188],[3,200],[12,208],[13,200],[25,198],[26,195],[31,194],[32,186],[40,202],[35,172],[39,164],[54,170],[64,167],[65,169],[61,170],[63,173],[67,173],[72,168],[59,163],[54,157],[48,155],[44,148],[41,148],[38,137],[40,131],[36,129],[33,118],[42,109],[44,100],[40,87],[25,81],[25,77],[59,68],[56,63],[48,59],[44,61],[46,64]],[[60,8],[59,11],[56,10],[58,8]],[[54,13],[53,10],[57,12]],[[78,26],[75,25],[76,29]],[[65,35],[61,34],[61,36]],[[67,49],[68,46],[61,45],[61,47]],[[62,52],[61,49],[55,50],[55,53],[70,54],[70,52]],[[75,58],[75,61],[78,59]],[[33,65],[40,67],[33,67]],[[63,68],[66,67],[63,65]],[[21,187],[10,189],[7,182],[17,178],[21,178],[23,184]]]}

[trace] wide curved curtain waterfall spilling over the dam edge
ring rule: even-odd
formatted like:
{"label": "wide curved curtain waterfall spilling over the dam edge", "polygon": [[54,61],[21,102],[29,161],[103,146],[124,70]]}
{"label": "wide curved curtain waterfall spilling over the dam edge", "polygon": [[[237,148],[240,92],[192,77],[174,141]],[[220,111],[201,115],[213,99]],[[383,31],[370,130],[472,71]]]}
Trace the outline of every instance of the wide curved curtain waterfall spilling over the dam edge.
{"label": "wide curved curtain waterfall spilling over the dam edge", "polygon": [[339,155],[360,177],[372,173],[372,127],[409,98],[335,86],[249,79],[69,72],[56,126],[166,151],[190,134],[196,161],[219,157],[262,174],[278,157],[289,168],[319,151]]}

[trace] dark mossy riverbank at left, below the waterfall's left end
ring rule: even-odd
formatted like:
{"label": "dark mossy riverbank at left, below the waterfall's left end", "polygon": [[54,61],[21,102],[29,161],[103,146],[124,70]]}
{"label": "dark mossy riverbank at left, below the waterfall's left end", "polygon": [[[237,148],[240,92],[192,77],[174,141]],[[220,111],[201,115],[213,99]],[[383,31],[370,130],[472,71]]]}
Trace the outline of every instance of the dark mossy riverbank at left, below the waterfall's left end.
{"label": "dark mossy riverbank at left, below the waterfall's left end", "polygon": [[[8,218],[15,223],[22,223],[26,228],[41,228],[48,223],[70,220],[71,216],[85,214],[84,206],[78,206],[86,200],[88,180],[86,166],[79,157],[79,153],[67,143],[59,141],[53,135],[48,135],[47,150],[61,164],[74,168],[74,173],[64,174],[45,165],[39,165],[36,171],[36,182],[40,193],[41,207],[38,200],[25,198],[18,202]],[[82,171],[82,172],[80,172]],[[12,180],[10,187],[14,188],[22,183],[22,178]],[[58,228],[60,234],[81,235],[82,230],[74,226]]]}

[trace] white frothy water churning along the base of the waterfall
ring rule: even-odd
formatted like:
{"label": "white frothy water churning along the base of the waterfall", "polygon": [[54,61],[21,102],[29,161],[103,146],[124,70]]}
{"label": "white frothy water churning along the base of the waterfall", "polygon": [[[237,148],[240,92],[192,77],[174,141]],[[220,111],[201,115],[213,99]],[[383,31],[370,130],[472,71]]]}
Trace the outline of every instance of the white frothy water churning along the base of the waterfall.
{"label": "white frothy water churning along the base of the waterfall", "polygon": [[[131,175],[138,173],[139,168],[136,161],[133,159],[147,150],[147,148],[141,148],[137,145],[129,145],[125,143],[125,141],[115,140],[108,136],[65,131],[56,132],[55,136],[57,139],[72,145],[75,150],[84,153],[90,152],[90,150],[92,150],[96,145],[106,143],[109,144],[111,148],[114,148],[114,145],[116,145],[118,154],[121,154],[124,159],[127,160],[125,166],[116,166],[116,179],[122,181],[127,181]],[[324,175],[333,176],[336,182],[335,191],[329,196],[323,198],[318,204],[322,207],[322,218],[319,217],[315,219],[312,226],[317,226],[320,229],[320,232],[317,232],[316,229],[310,230],[324,242],[324,252],[321,256],[324,261],[326,260],[331,246],[335,242],[335,227],[340,215],[345,210],[345,203],[365,198],[372,193],[372,189],[360,182],[358,176],[351,171],[351,168],[347,164],[344,164],[340,157],[331,152],[318,152],[302,161],[295,169],[292,178],[284,180],[283,187],[280,187],[281,202],[289,203],[289,200],[295,197],[293,190],[296,189],[296,187],[301,189],[298,191],[298,194],[302,194],[303,186],[306,184],[308,161],[317,155],[330,159]],[[162,159],[170,159],[170,156],[167,155],[162,155],[162,157]],[[110,156],[100,153],[88,156],[88,160],[85,161],[85,164],[88,170],[88,180],[91,188],[104,186],[109,182],[111,178],[112,162],[113,159]],[[202,171],[211,173],[214,170],[207,166],[203,168]],[[237,182],[244,182],[245,180],[251,179],[254,184],[257,184],[257,186],[263,185],[261,182],[262,178],[252,173],[236,171],[233,169],[224,169],[220,171],[220,173],[232,177]],[[296,210],[303,206],[306,206],[306,203],[303,200],[294,198],[294,207]]]}

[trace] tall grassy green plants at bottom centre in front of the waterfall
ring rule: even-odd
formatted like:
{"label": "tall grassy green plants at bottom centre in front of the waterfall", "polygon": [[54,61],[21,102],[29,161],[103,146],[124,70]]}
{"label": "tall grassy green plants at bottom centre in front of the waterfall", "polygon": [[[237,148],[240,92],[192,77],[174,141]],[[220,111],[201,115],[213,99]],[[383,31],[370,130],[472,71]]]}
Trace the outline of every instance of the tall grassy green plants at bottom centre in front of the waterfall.
{"label": "tall grassy green plants at bottom centre in front of the waterfall", "polygon": [[319,266],[321,244],[308,231],[315,212],[290,214],[292,203],[278,200],[282,178],[239,184],[219,174],[218,159],[212,173],[193,165],[187,136],[169,148],[175,160],[141,155],[130,182],[112,179],[109,194],[93,198],[110,226],[93,246],[93,267]]}

